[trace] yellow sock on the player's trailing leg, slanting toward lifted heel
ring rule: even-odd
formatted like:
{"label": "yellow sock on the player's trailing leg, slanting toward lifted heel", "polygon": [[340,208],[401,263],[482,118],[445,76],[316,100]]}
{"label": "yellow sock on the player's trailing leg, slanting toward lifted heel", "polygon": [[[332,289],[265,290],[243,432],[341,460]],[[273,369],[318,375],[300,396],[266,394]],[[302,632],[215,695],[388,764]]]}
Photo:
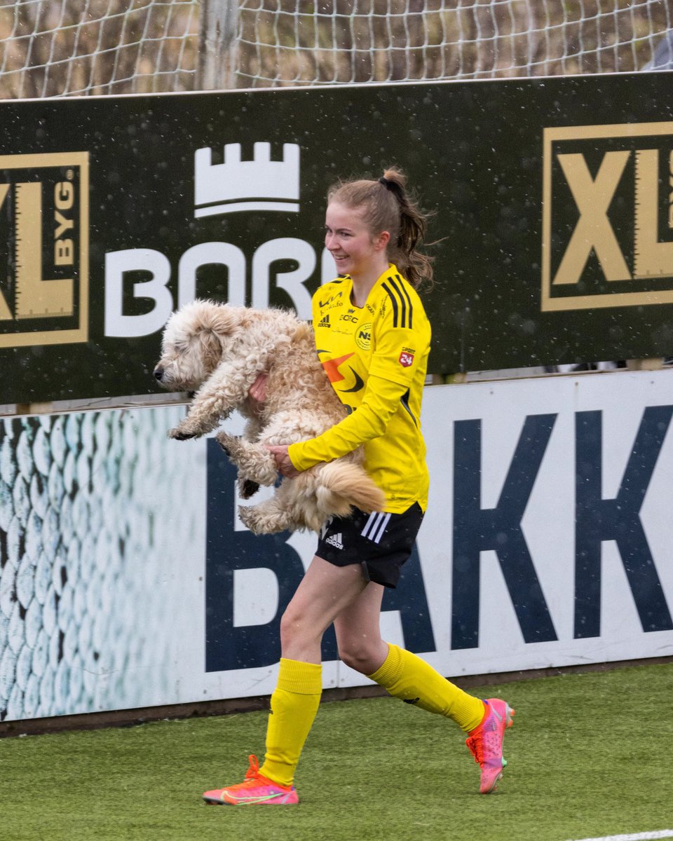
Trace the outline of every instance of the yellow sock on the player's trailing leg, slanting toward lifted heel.
{"label": "yellow sock on the player's trailing leg, slanting toward lifted heel", "polygon": [[396,645],[389,645],[384,664],[368,677],[395,698],[453,719],[466,733],[479,727],[484,717],[484,701],[458,689],[425,660]]}

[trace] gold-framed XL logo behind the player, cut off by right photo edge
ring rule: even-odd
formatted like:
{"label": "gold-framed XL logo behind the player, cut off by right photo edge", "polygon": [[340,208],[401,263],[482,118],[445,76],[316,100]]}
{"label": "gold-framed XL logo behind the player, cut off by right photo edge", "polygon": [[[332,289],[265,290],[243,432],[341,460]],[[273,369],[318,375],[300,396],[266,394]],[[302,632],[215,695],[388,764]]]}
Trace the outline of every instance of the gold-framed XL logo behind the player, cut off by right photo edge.
{"label": "gold-framed XL logo behind the player, cut off by right photo edge", "polygon": [[673,123],[544,130],[542,309],[673,303]]}

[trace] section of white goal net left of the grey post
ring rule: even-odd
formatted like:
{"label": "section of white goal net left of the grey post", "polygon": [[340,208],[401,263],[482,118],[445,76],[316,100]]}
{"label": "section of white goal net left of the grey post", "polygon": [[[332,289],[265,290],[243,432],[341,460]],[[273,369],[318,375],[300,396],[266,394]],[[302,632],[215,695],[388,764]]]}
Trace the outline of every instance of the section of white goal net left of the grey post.
{"label": "section of white goal net left of the grey post", "polygon": [[193,90],[198,33],[197,0],[4,3],[0,98]]}

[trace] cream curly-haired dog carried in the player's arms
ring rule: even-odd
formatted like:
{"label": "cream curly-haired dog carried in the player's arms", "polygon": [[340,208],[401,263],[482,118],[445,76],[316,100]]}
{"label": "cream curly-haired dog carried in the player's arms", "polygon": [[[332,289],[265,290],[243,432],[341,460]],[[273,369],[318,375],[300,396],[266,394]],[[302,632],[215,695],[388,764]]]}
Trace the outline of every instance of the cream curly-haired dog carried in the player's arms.
{"label": "cream curly-haired dog carried in the player's arms", "polygon": [[[248,396],[267,373],[267,398]],[[188,414],[168,435],[183,441],[211,432],[235,409],[246,417],[242,437],[216,436],[239,469],[241,495],[273,485],[278,469],[264,444],[291,444],[320,435],[346,415],[315,352],[310,325],[283,309],[250,309],[195,300],[174,312],[162,338],[156,380],[172,391],[196,391]],[[256,534],[284,529],[320,531],[330,516],[355,505],[382,510],[384,493],[363,468],[362,448],[283,479],[270,500],[241,506]]]}

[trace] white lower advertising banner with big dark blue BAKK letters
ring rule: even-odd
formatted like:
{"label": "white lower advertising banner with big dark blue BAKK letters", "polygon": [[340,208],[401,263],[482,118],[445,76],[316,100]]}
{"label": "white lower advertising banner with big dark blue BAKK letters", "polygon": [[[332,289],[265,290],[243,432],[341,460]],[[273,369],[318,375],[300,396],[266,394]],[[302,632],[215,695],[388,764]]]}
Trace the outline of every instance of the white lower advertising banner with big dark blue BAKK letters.
{"label": "white lower advertising banner with big dark blue BAKK letters", "polygon": [[[273,691],[315,536],[248,532],[215,441],[167,438],[182,413],[0,423],[0,719]],[[673,654],[672,415],[669,371],[428,388],[384,636],[447,676]],[[323,657],[326,688],[368,683],[331,631]]]}

